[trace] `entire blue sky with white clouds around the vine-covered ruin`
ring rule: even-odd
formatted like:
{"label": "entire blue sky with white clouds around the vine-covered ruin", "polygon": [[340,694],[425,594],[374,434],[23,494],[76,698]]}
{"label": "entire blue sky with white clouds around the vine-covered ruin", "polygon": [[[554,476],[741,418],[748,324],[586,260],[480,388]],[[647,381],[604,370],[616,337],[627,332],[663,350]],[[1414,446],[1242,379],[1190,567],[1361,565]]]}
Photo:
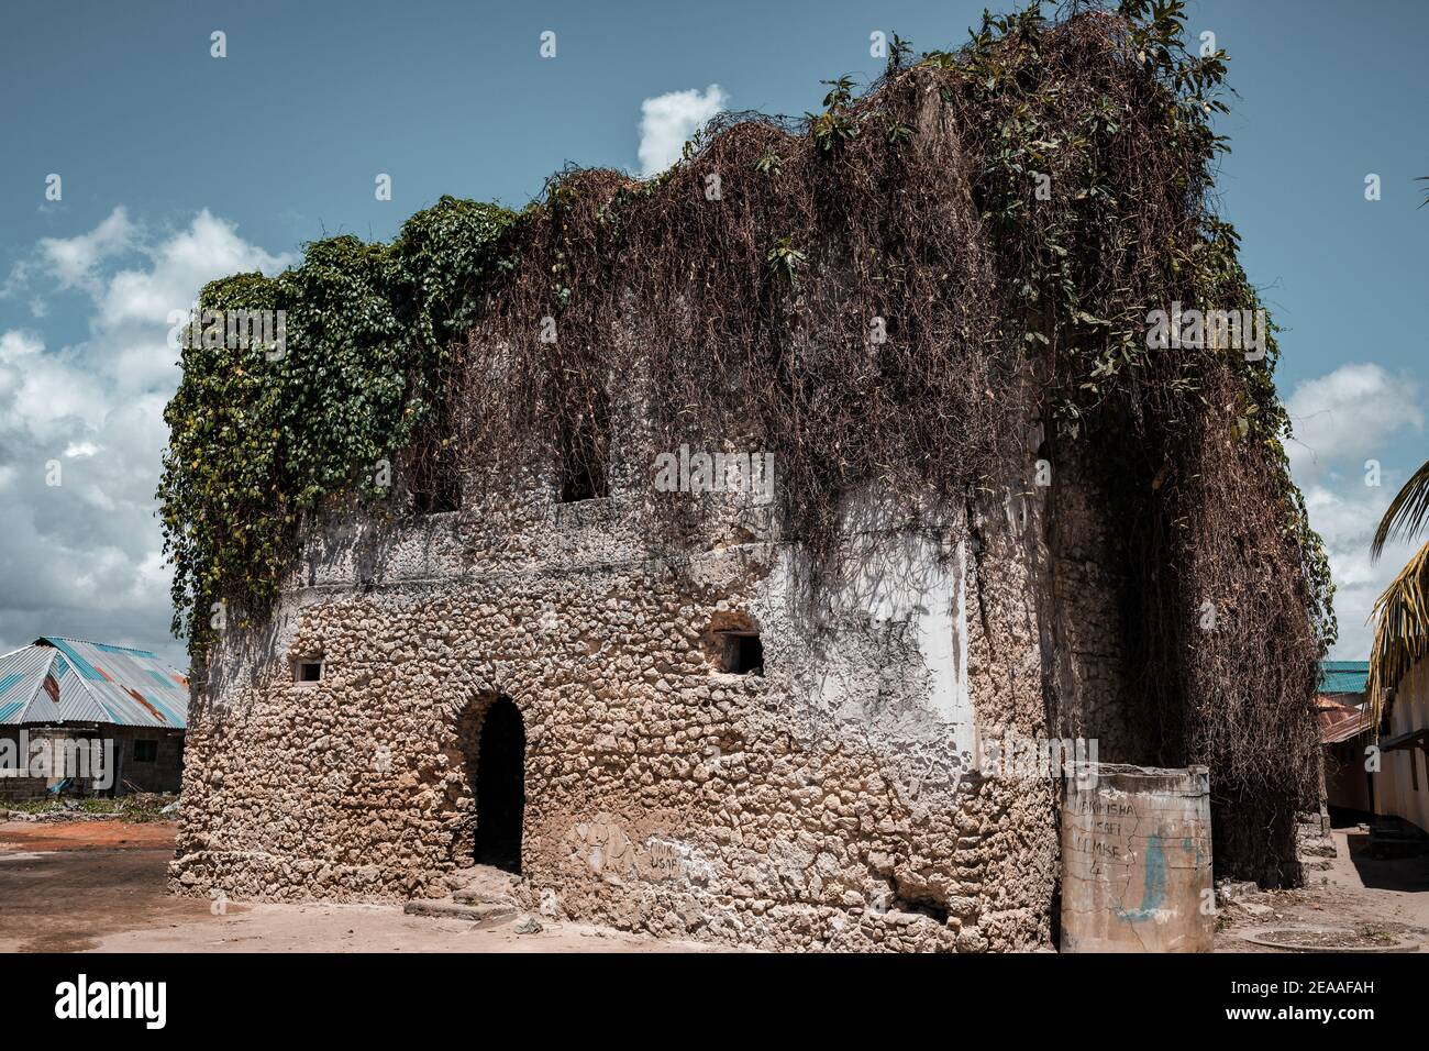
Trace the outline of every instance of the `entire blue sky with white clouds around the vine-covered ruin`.
{"label": "entire blue sky with white clouds around the vine-covered ruin", "polygon": [[[956,46],[982,7],[11,0],[0,651],[53,632],[180,659],[150,496],[177,379],[166,315],[203,280],[283,266],[323,235],[390,237],[443,193],[522,204],[567,160],[640,170],[642,139],[667,154],[682,114],[803,113],[819,80],[877,73],[873,30]],[[1425,458],[1429,4],[1205,0],[1189,29],[1230,54],[1220,206],[1286,327],[1295,472],[1342,585],[1336,655],[1362,656],[1369,605],[1405,553],[1369,565],[1368,533]],[[544,30],[554,59],[539,54]],[[643,134],[643,103],[670,93],[684,94],[652,110],[666,126]],[[379,173],[390,202],[374,197]],[[1366,459],[1382,463],[1378,489]],[[51,460],[59,486],[44,483]]]}

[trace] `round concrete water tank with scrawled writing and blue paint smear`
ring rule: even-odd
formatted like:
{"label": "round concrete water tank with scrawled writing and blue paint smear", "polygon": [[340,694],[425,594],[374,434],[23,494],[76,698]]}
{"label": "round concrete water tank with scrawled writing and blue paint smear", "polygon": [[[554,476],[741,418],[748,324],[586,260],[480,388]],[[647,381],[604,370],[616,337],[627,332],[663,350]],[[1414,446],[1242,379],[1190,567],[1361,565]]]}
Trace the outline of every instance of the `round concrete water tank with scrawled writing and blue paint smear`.
{"label": "round concrete water tank with scrawled writing and blue paint smear", "polygon": [[1062,951],[1210,952],[1210,774],[1083,764],[1063,779]]}

